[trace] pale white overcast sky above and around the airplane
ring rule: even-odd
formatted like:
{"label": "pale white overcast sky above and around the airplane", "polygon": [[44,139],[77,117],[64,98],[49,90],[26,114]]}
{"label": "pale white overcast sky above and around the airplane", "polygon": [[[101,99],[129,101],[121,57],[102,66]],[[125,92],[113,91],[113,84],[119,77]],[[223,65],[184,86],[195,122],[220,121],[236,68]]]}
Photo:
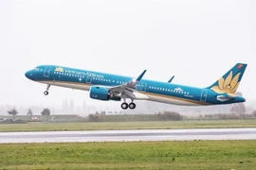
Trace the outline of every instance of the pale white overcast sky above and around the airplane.
{"label": "pale white overcast sky above and around the airplane", "polygon": [[24,76],[41,64],[206,87],[246,62],[239,91],[256,99],[256,1],[1,0],[0,24],[0,104],[99,104],[64,88],[45,96]]}

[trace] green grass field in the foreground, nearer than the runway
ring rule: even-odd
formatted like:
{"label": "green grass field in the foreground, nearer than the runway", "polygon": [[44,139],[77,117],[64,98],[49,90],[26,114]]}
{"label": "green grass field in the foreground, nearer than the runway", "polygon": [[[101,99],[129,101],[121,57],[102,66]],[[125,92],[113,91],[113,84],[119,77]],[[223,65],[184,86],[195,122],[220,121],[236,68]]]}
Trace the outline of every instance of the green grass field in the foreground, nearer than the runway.
{"label": "green grass field in the foreground, nearer than the runway", "polygon": [[256,167],[255,141],[1,144],[0,169],[219,169]]}

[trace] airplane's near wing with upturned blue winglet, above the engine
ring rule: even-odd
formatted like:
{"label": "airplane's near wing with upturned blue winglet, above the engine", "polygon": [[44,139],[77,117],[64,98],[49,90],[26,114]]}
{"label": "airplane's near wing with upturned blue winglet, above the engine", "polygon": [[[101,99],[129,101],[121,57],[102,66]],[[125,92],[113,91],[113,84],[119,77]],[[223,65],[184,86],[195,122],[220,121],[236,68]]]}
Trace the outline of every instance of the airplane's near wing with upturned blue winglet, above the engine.
{"label": "airplane's near wing with upturned blue winglet, above the engine", "polygon": [[121,84],[119,86],[107,87],[110,90],[110,93],[114,96],[126,96],[127,98],[136,99],[136,86],[137,83],[141,80],[141,78],[145,75],[147,70],[144,70],[136,79],[132,81]]}

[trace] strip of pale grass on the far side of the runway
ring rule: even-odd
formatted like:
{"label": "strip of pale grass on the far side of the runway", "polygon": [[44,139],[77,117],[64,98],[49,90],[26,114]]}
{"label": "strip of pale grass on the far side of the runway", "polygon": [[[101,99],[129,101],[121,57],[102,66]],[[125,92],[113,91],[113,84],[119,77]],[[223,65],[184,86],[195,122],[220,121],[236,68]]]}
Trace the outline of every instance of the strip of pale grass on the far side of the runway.
{"label": "strip of pale grass on the far side of the runway", "polygon": [[256,127],[256,119],[249,120],[195,120],[162,122],[66,122],[0,124],[0,131],[45,131],[45,130],[97,130],[97,129],[142,129],[142,128],[199,128],[199,127]]}

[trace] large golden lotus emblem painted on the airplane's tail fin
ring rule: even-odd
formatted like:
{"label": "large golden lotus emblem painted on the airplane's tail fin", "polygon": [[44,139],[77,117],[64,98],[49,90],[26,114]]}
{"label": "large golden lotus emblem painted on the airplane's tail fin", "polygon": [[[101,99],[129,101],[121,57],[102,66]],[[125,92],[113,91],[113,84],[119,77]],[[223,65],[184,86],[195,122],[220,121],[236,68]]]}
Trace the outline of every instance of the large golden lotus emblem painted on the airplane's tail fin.
{"label": "large golden lotus emblem painted on the airplane's tail fin", "polygon": [[[232,71],[230,72],[229,76],[226,79],[221,77],[218,81],[217,86],[213,86],[210,88],[212,91],[216,93],[230,93],[235,94],[238,86],[239,86],[239,76],[241,73],[238,73],[236,76],[233,77]],[[233,77],[233,78],[232,78]]]}

